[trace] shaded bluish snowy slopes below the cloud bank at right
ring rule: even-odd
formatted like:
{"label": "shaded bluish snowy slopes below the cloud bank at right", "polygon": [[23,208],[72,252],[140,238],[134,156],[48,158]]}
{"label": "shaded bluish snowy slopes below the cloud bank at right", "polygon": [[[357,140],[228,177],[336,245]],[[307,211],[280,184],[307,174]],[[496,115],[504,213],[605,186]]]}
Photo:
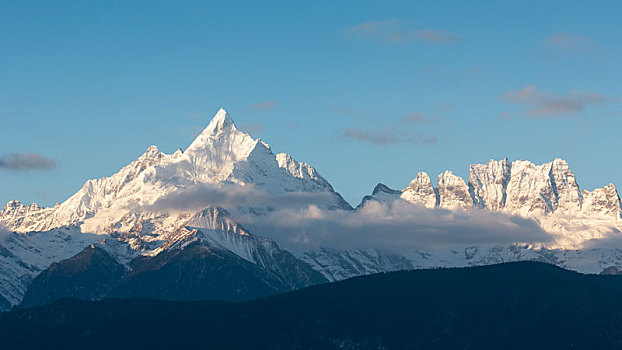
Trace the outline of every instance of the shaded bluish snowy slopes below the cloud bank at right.
{"label": "shaded bluish snowy slopes below the cloud bank at right", "polygon": [[415,250],[401,255],[382,250],[307,252],[302,257],[329,281],[378,272],[467,267],[516,261],[540,261],[588,274],[622,273],[622,249],[552,249],[542,245],[467,245]]}

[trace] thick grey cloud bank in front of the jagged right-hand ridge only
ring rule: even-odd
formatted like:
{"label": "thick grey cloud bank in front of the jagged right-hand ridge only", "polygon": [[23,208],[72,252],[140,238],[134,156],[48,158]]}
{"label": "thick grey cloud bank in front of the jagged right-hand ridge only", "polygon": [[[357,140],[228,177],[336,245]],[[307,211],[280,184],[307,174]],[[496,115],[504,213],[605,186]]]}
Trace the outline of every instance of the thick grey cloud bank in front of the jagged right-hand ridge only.
{"label": "thick grey cloud bank in front of the jagged right-hand ridge only", "polygon": [[371,201],[359,210],[323,210],[310,205],[265,216],[237,218],[251,232],[295,251],[320,247],[382,249],[406,254],[417,249],[493,244],[546,243],[552,236],[532,220],[482,210],[428,209],[405,201]]}

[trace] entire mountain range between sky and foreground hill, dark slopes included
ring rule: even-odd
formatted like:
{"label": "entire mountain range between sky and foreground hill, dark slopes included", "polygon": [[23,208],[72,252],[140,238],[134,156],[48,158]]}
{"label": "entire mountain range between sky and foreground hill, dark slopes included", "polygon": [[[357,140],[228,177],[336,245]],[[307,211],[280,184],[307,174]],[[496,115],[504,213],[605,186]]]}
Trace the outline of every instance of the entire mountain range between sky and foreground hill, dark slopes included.
{"label": "entire mountain range between sky and foreground hill, dark slopes included", "polygon": [[[484,215],[494,219],[489,236],[529,227],[545,239],[418,245],[412,237],[404,251],[384,247],[397,230],[389,224],[372,243],[348,246],[326,234],[317,241],[317,226],[294,220],[365,218],[379,208],[392,213],[387,222],[411,211],[454,223]],[[269,226],[283,223],[281,234],[285,226]],[[435,184],[419,172],[402,190],[378,184],[353,208],[315,168],[274,154],[223,109],[187,149],[151,146],[54,207],[11,201],[0,225],[0,310],[62,297],[240,301],[377,272],[519,260],[622,270],[616,187],[581,190],[562,159],[491,160],[471,165],[467,181],[446,171]]]}

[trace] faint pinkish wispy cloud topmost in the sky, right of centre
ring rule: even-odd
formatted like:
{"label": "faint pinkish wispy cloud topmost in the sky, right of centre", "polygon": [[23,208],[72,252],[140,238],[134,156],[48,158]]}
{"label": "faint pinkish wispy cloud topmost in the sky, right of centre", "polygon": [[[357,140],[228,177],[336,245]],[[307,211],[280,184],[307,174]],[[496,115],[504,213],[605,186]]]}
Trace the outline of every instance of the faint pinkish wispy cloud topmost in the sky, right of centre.
{"label": "faint pinkish wispy cloud topmost in the sky, right of centre", "polygon": [[425,41],[428,43],[451,43],[460,40],[460,36],[437,29],[415,29],[397,19],[368,21],[349,27],[344,31],[347,37],[373,39],[384,43],[403,43]]}

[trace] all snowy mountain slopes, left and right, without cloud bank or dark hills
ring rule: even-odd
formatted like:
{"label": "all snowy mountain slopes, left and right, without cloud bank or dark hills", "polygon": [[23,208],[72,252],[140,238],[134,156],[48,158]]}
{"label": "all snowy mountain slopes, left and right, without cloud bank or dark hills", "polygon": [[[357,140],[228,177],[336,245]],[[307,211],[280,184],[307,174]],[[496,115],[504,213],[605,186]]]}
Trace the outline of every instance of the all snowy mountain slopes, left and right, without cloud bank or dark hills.
{"label": "all snowy mountain slopes, left and right, without cloud bank or dark hills", "polygon": [[[373,202],[520,216],[537,222],[553,242],[421,247],[406,255],[325,246],[294,255],[280,248],[280,241],[266,238],[270,232],[251,233],[239,220],[267,218],[282,209],[290,210],[282,220],[292,219],[291,211],[299,209],[321,219],[331,212],[364,213]],[[63,203],[43,208],[11,201],[0,209],[0,225],[12,231],[0,242],[0,296],[19,303],[38,274],[91,244],[128,269],[139,257],[151,259],[199,244],[230,252],[225,255],[264,269],[290,289],[320,281],[311,277],[314,273],[335,281],[382,271],[521,259],[598,273],[622,268],[622,253],[586,248],[583,256],[590,256],[589,261],[579,249],[620,233],[620,207],[613,184],[581,190],[562,159],[536,165],[505,158],[470,165],[466,180],[448,170],[438,175],[436,185],[425,172],[418,172],[403,190],[378,184],[353,211],[315,168],[289,154],[274,154],[267,143],[238,130],[221,109],[185,151],[165,154],[150,146],[112,176],[86,181]]]}

